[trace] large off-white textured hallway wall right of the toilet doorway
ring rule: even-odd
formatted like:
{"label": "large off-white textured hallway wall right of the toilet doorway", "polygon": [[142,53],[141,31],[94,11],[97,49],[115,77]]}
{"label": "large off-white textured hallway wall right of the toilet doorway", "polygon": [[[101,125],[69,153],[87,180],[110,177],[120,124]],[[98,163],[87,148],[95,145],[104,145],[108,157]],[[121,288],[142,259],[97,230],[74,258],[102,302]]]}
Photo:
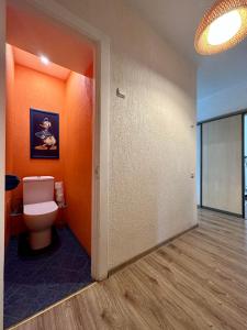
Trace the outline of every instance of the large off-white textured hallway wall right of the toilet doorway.
{"label": "large off-white textured hallway wall right of the toilet doorway", "polygon": [[124,1],[57,2],[111,38],[112,268],[197,223],[195,68]]}

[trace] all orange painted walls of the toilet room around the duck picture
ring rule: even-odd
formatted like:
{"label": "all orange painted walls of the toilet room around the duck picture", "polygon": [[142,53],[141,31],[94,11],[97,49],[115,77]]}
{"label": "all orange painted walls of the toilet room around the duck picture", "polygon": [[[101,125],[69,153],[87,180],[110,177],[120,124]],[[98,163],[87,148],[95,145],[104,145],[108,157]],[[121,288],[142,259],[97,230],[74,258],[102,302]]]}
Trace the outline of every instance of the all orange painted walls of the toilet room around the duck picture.
{"label": "all orange painted walls of the toilet room around the duck picture", "polygon": [[[71,73],[67,81],[63,81],[24,66],[13,68],[14,89],[13,78],[10,79],[12,72],[8,84],[11,106],[8,103],[7,111],[7,168],[20,178],[53,175],[56,180],[64,180],[65,219],[90,254],[92,80]],[[30,108],[60,114],[60,160],[30,158]],[[10,200],[22,198],[22,185],[8,196],[9,205]],[[7,228],[9,221],[7,217]],[[16,228],[22,228],[20,220]],[[16,228],[12,232],[19,231]]]}

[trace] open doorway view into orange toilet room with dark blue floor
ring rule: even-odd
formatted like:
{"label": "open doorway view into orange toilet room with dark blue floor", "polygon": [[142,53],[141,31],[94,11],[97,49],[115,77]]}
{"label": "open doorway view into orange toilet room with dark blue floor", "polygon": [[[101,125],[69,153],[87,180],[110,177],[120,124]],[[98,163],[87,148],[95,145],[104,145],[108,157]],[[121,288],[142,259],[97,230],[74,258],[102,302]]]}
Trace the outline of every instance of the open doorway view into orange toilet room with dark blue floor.
{"label": "open doorway view into orange toilet room with dark blue floor", "polygon": [[5,170],[21,182],[5,194],[5,328],[93,280],[91,73],[44,51],[7,45]]}

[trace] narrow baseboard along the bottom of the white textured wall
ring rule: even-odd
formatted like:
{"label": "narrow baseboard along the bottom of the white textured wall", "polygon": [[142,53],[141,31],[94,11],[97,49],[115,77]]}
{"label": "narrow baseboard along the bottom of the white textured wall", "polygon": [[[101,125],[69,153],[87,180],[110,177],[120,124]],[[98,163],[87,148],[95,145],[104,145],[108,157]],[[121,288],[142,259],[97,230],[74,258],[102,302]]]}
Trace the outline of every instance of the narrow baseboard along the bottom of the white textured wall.
{"label": "narrow baseboard along the bottom of the white textured wall", "polygon": [[165,240],[164,242],[161,242],[161,243],[155,245],[154,248],[150,248],[150,249],[148,249],[148,250],[146,250],[146,251],[139,253],[138,255],[132,257],[131,260],[124,262],[123,264],[121,264],[121,265],[119,265],[119,266],[116,266],[116,267],[113,267],[112,270],[109,271],[109,274],[108,274],[109,277],[112,276],[113,274],[115,274],[115,273],[122,271],[122,270],[125,268],[126,266],[128,266],[128,265],[135,263],[136,261],[143,258],[144,256],[150,254],[151,252],[158,250],[159,248],[161,248],[161,246],[164,246],[164,245],[170,243],[171,241],[178,239],[179,237],[183,235],[184,233],[187,233],[187,232],[189,232],[189,231],[191,231],[191,230],[198,228],[198,227],[199,227],[199,224],[194,224],[194,226],[190,227],[189,229],[183,230],[182,232],[180,232],[180,233],[178,233],[178,234],[171,237],[170,239]]}

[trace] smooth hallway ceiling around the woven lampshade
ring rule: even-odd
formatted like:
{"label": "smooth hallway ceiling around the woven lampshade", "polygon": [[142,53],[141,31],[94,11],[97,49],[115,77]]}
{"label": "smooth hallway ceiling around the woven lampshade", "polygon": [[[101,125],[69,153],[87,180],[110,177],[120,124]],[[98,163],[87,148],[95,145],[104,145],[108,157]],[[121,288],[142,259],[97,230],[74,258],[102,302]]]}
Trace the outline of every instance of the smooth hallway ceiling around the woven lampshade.
{"label": "smooth hallway ceiling around the woven lampshade", "polygon": [[189,61],[198,65],[198,98],[246,80],[247,41],[233,50],[213,56],[194,51],[197,26],[214,0],[127,0],[153,28]]}

